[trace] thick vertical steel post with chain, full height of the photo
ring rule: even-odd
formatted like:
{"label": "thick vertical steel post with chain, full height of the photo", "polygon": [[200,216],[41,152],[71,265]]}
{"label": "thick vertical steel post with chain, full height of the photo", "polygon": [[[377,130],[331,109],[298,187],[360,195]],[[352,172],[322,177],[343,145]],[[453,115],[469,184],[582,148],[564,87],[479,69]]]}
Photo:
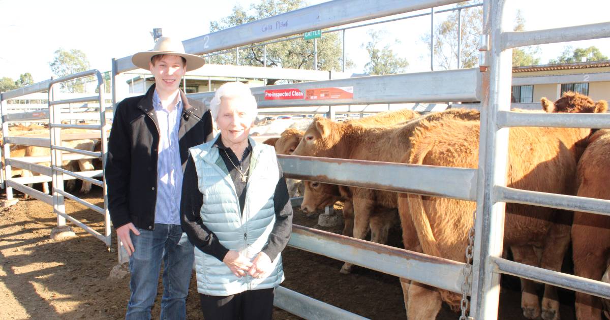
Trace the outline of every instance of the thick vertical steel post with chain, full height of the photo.
{"label": "thick vertical steel post with chain, full height of the photo", "polygon": [[[489,37],[488,62],[481,85],[481,142],[477,186],[477,216],[471,316],[497,319],[500,274],[493,272],[490,257],[501,257],[504,240],[504,202],[496,202],[493,188],[506,186],[508,128],[497,129],[498,111],[509,111],[511,101],[512,50],[502,51],[502,33],[508,31],[505,0],[484,2],[483,34]],[[505,30],[506,29],[506,30]]]}

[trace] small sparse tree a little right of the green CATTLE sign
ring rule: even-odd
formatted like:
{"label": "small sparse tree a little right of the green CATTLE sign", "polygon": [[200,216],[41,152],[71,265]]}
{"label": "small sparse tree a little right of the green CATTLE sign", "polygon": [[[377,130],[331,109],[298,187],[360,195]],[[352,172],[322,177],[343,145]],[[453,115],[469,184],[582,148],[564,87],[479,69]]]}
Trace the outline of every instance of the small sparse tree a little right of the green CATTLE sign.
{"label": "small sparse tree a little right of the green CATTLE sign", "polygon": [[365,48],[370,57],[370,61],[364,65],[364,72],[368,74],[395,74],[403,73],[409,62],[407,59],[399,58],[390,49],[390,45],[386,44],[384,48],[379,49],[382,35],[385,32],[368,30],[368,35],[371,40],[367,44],[362,44],[361,48]]}

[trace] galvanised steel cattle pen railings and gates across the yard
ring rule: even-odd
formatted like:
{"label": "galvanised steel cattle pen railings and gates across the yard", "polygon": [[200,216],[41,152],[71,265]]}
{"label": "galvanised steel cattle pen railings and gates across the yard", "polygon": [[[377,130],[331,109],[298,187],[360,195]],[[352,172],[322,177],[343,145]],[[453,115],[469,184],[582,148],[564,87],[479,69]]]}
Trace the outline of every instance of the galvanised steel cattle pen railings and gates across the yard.
{"label": "galvanised steel cattle pen railings and gates across the yard", "polygon": [[[367,21],[398,13],[431,9],[439,5],[455,4],[456,0],[414,1],[365,1],[334,0],[304,9],[265,18],[212,34],[183,41],[185,50],[191,54],[210,54],[224,49],[239,48],[247,44],[273,40],[311,30],[341,26],[358,21]],[[347,79],[315,80],[295,84],[282,84],[252,88],[259,108],[321,107],[358,104],[401,104],[422,102],[481,101],[481,129],[478,169],[450,168],[403,163],[370,162],[336,158],[316,158],[293,155],[278,155],[287,177],[333,183],[350,187],[373,188],[397,193],[415,193],[447,197],[476,202],[475,225],[472,242],[465,247],[466,263],[447,260],[418,252],[407,251],[364,240],[336,235],[307,227],[294,226],[289,246],[353,263],[392,276],[413,280],[442,290],[463,295],[461,319],[496,319],[500,275],[509,274],[523,279],[535,280],[549,285],[580,291],[610,299],[608,283],[584,279],[561,272],[524,265],[502,257],[504,236],[504,210],[507,203],[537,205],[569,211],[581,211],[609,215],[610,201],[578,196],[518,190],[506,187],[508,168],[508,140],[511,127],[577,127],[610,128],[608,114],[532,114],[511,112],[511,63],[512,49],[534,44],[587,40],[610,37],[610,23],[588,24],[558,29],[512,32],[506,19],[504,7],[510,0],[486,0],[483,2],[483,34],[479,43],[478,68],[429,71],[424,73],[392,74],[387,76],[354,77]],[[261,26],[281,22],[281,28],[268,29]],[[112,104],[117,104],[116,79],[121,73],[135,69],[130,57],[113,59]],[[96,96],[85,96],[69,100],[54,99],[53,86],[67,80],[95,76],[98,85]],[[265,99],[267,90],[292,90],[301,92],[323,88],[351,87],[353,96],[332,100]],[[410,90],[401,90],[410,88]],[[47,112],[7,114],[6,101],[24,94],[48,91]],[[105,182],[93,177],[102,177],[102,170],[72,172],[62,168],[63,160],[101,158],[105,163],[107,124],[106,117],[112,108],[106,108],[104,79],[99,71],[91,70],[60,79],[50,79],[19,90],[1,93],[2,133],[5,157],[3,179],[7,198],[12,199],[12,188],[30,194],[54,207],[59,228],[66,219],[110,246],[110,222],[107,211]],[[188,94],[189,98],[209,103],[214,92]],[[71,114],[67,116],[57,105],[70,102],[98,101],[98,112]],[[328,108],[329,115],[334,113]],[[73,118],[70,118],[73,117]],[[36,121],[48,119],[49,139],[10,137],[8,124],[12,121]],[[96,124],[65,124],[66,119],[96,119]],[[101,141],[100,151],[84,151],[62,146],[62,129],[96,130],[95,137]],[[74,138],[91,138],[86,133]],[[50,148],[49,157],[26,160],[10,159],[10,144],[23,144]],[[65,154],[63,152],[68,152]],[[51,166],[37,165],[51,162]],[[11,166],[29,169],[42,176],[27,179],[11,178]],[[414,181],[411,176],[423,177]],[[104,188],[104,207],[88,204],[63,190],[63,180],[81,179]],[[52,182],[51,195],[27,187],[27,183]],[[101,213],[106,221],[104,234],[95,232],[85,224],[66,215],[63,199],[68,197]],[[118,249],[118,260],[125,257]],[[466,297],[470,299],[467,300]],[[326,304],[295,291],[279,287],[274,304],[294,315],[306,319],[358,319],[361,316]],[[470,315],[466,315],[470,305]]]}

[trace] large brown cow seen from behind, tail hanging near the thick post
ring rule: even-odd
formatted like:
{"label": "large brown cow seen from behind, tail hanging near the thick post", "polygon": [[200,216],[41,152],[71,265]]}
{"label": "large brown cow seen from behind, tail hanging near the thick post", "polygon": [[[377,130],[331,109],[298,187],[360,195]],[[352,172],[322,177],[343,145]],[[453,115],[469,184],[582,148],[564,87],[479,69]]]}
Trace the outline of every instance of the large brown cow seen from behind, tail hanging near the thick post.
{"label": "large brown cow seen from behind, tail hanging near the thick post", "polygon": [[[547,112],[605,112],[607,104],[595,104],[580,94],[567,93],[556,104],[542,99]],[[512,188],[557,194],[573,194],[576,162],[580,144],[590,129],[515,127],[510,129],[509,170],[507,185]],[[447,120],[423,121],[411,137],[408,163],[418,165],[476,168],[478,165],[479,123]],[[406,161],[405,161],[406,162]],[[437,257],[464,261],[467,233],[473,224],[474,202],[440,197],[401,194],[398,201],[401,221],[411,221],[423,252]],[[571,215],[553,208],[506,204],[504,246],[511,249],[514,260],[559,271],[570,242]],[[412,226],[403,225],[403,233]],[[537,257],[536,247],[542,248]],[[439,293],[424,286],[408,289],[408,303],[418,306],[422,319],[434,318],[440,304]],[[412,292],[411,290],[415,290]],[[459,296],[439,291],[451,307],[458,307]],[[422,313],[422,306],[425,313]],[[431,306],[434,306],[432,308]],[[535,319],[559,319],[559,302],[553,286],[545,286],[542,314],[534,283],[522,279],[523,315]],[[411,311],[411,307],[407,308]]]}

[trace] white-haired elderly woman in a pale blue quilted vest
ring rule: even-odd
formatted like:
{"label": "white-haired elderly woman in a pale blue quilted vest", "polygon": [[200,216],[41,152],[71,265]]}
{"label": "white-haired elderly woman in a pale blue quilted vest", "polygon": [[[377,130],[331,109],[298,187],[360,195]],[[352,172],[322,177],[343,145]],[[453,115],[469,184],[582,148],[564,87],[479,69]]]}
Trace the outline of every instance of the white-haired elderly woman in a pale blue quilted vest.
{"label": "white-haired elderly woman in a pale blue quilted vest", "polygon": [[273,147],[248,133],[257,115],[250,89],[222,85],[210,102],[220,134],[190,148],[182,183],[182,229],[195,245],[206,320],[271,319],[284,280],[280,252],[292,207]]}

